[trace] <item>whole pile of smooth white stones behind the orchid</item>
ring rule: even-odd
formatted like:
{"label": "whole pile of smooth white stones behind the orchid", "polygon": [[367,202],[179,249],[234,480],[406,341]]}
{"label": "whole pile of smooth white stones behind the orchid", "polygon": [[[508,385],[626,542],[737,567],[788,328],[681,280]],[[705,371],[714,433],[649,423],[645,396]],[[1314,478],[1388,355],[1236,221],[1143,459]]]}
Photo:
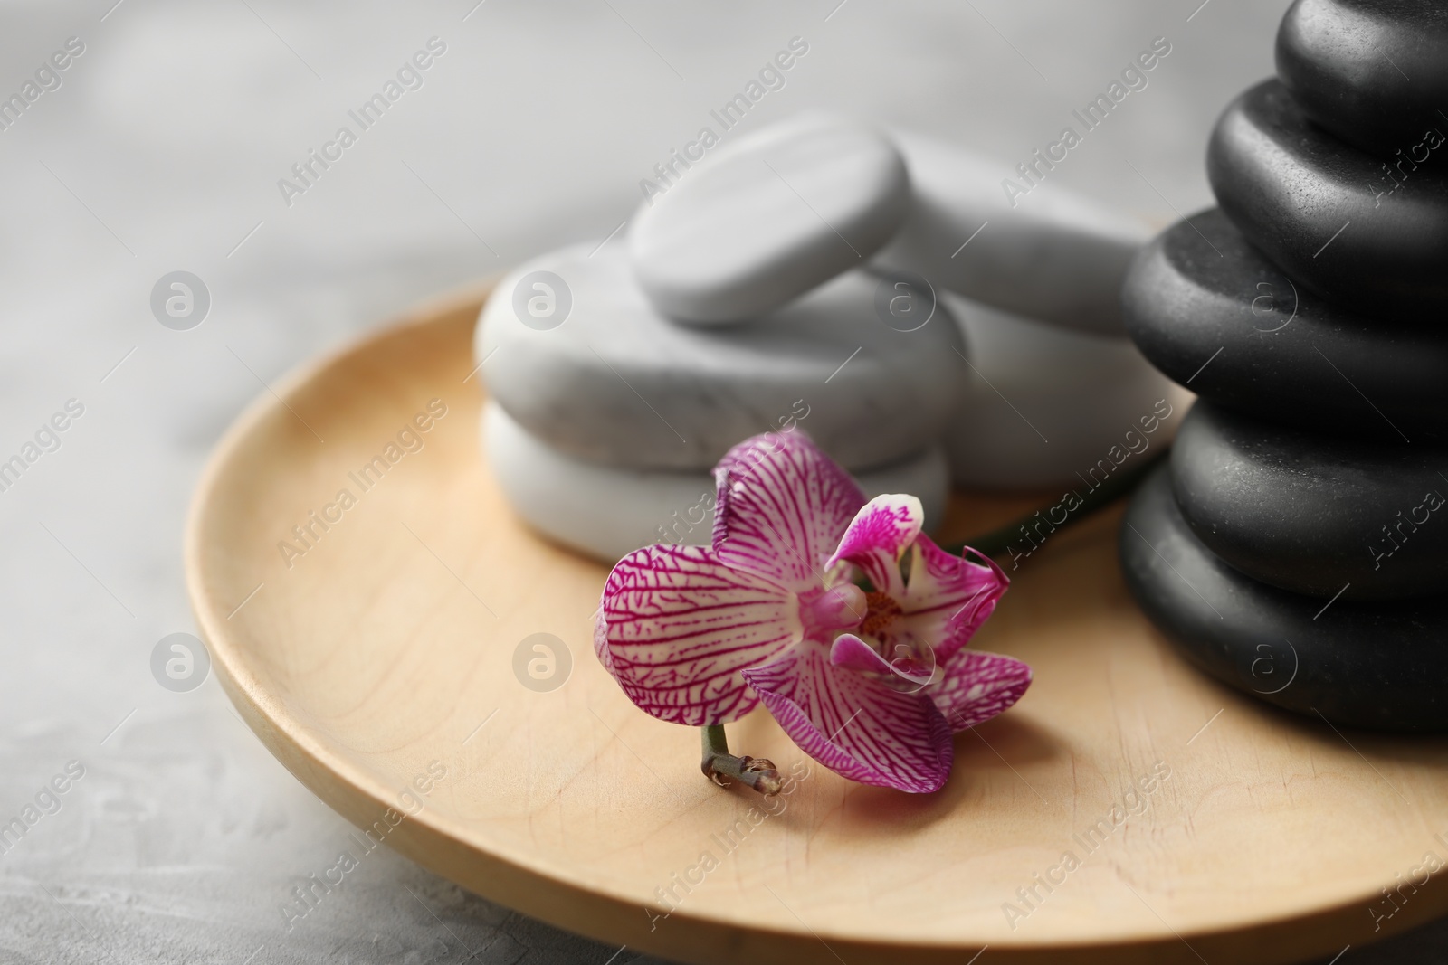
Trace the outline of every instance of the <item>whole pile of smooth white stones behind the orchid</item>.
{"label": "whole pile of smooth white stones behind the orchid", "polygon": [[1121,328],[1148,231],[1050,185],[1012,208],[999,172],[805,114],[689,168],[627,245],[521,265],[475,340],[507,498],[614,561],[708,544],[712,466],[759,433],[807,433],[867,495],[915,493],[927,527],[951,482],[1073,480],[1173,392]]}

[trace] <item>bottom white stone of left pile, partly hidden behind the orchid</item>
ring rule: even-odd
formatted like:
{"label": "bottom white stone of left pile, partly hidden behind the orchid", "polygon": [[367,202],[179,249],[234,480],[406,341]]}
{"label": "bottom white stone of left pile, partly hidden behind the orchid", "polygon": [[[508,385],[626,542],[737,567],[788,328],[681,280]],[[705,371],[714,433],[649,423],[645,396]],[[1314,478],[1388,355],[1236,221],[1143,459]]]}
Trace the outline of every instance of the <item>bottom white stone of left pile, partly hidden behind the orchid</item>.
{"label": "bottom white stone of left pile, partly hidden behind the orchid", "polygon": [[[714,527],[714,476],[585,463],[529,435],[502,407],[484,409],[488,466],[513,509],[543,535],[613,564],[654,543],[708,545]],[[906,492],[925,508],[925,530],[940,524],[950,473],[940,447],[864,473],[866,496]]]}

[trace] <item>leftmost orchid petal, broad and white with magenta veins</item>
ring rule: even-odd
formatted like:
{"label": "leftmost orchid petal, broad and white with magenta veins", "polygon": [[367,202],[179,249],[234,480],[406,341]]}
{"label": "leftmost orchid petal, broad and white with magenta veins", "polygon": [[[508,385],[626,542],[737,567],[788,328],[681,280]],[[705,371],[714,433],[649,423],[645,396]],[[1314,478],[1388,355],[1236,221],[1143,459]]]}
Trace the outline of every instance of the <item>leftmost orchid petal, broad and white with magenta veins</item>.
{"label": "leftmost orchid petal, broad and white with magenta veins", "polygon": [[741,670],[799,639],[792,593],[733,570],[705,547],[654,545],[604,586],[604,667],[640,709],[675,723],[737,720],[759,703]]}

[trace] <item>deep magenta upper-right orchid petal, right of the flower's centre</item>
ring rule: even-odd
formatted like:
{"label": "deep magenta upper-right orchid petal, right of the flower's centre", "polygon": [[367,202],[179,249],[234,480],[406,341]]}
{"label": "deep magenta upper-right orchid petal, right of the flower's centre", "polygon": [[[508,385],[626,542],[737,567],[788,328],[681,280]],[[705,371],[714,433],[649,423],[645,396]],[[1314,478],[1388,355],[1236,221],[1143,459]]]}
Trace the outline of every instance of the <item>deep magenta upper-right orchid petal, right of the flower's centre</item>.
{"label": "deep magenta upper-right orchid petal, right of the flower's centre", "polygon": [[921,535],[909,569],[909,589],[901,598],[901,615],[879,632],[885,652],[896,645],[918,650],[928,644],[935,661],[948,663],[970,642],[995,611],[1011,580],[988,557],[985,564],[951,556]]}

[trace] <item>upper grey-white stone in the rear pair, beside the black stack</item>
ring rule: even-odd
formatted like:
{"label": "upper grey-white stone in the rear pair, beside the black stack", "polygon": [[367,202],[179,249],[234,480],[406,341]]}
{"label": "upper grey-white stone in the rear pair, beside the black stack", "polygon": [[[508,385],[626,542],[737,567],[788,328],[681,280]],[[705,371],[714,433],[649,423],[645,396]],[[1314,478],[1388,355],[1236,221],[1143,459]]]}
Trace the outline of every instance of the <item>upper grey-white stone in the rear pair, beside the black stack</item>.
{"label": "upper grey-white stone in the rear pair, beside the black stack", "polygon": [[914,203],[876,266],[918,272],[1027,318],[1125,336],[1121,282],[1151,236],[1145,224],[1050,181],[1050,172],[1012,207],[1001,182],[1021,175],[1008,162],[919,135],[895,133],[895,142]]}

